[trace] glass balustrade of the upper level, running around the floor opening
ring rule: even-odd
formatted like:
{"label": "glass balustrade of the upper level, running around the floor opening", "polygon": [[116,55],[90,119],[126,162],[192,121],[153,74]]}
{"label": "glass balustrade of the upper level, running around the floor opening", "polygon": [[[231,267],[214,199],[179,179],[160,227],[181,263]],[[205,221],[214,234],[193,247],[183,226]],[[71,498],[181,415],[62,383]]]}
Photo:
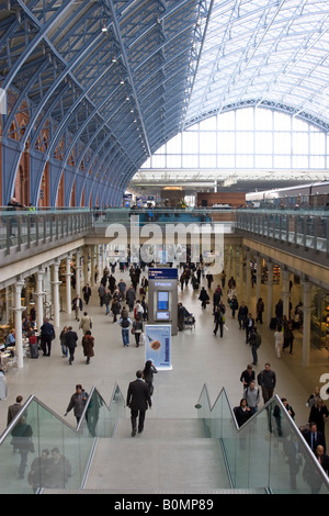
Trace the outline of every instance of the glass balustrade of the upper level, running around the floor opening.
{"label": "glass balustrade of the upper level, running around the floor opening", "polygon": [[[63,209],[38,211],[0,211],[0,251],[5,256],[11,248],[25,251],[43,245],[58,245],[64,239],[93,231],[106,232],[110,225],[120,224],[126,228],[149,227],[155,224],[166,227],[183,224],[189,231],[203,227],[213,234],[242,231],[260,237],[329,254],[329,212],[319,210],[229,210],[213,209]],[[113,232],[112,232],[113,233]],[[113,236],[110,232],[109,236]],[[99,233],[98,233],[99,234]],[[316,259],[316,254],[313,257]],[[7,258],[7,261],[10,258]]]}

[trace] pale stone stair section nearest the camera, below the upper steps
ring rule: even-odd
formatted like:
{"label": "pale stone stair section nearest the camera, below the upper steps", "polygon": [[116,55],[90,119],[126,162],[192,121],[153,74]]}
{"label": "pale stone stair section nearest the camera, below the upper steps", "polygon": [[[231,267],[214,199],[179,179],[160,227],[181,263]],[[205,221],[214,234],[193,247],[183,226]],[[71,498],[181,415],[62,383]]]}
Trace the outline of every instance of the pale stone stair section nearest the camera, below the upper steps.
{"label": "pale stone stair section nearest the camera, below the upper steps", "polygon": [[229,489],[217,439],[99,439],[87,490],[113,493],[201,493]]}

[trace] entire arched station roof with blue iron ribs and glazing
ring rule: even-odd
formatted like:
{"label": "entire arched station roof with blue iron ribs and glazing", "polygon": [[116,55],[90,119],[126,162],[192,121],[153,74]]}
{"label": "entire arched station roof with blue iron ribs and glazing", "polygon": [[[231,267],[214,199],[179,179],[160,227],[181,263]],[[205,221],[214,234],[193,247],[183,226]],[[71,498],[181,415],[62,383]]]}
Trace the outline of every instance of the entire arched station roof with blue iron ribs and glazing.
{"label": "entire arched station roof with blue iron ribs and glazing", "polygon": [[317,0],[0,0],[4,179],[29,148],[35,200],[55,157],[114,202],[217,112],[265,105],[328,131],[328,30]]}

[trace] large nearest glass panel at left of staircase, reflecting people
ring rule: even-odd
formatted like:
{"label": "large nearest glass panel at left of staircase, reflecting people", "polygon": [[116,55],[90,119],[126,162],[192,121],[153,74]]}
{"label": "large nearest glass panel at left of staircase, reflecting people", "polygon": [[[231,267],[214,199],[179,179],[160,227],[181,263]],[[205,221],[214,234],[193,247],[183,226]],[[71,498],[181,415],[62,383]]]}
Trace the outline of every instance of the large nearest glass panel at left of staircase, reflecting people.
{"label": "large nearest glass panel at left of staircase, reflecting people", "polygon": [[76,431],[32,397],[1,436],[0,493],[80,487],[92,446],[89,431]]}

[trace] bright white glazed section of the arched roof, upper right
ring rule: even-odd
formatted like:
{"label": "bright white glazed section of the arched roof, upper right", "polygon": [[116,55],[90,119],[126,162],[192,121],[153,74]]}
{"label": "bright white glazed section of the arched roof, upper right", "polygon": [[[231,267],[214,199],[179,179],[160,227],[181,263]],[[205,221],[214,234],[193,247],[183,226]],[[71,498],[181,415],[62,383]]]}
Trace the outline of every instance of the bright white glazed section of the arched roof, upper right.
{"label": "bright white glazed section of the arched roof, upper right", "polygon": [[205,113],[256,104],[327,131],[328,30],[327,1],[212,2],[185,125]]}

